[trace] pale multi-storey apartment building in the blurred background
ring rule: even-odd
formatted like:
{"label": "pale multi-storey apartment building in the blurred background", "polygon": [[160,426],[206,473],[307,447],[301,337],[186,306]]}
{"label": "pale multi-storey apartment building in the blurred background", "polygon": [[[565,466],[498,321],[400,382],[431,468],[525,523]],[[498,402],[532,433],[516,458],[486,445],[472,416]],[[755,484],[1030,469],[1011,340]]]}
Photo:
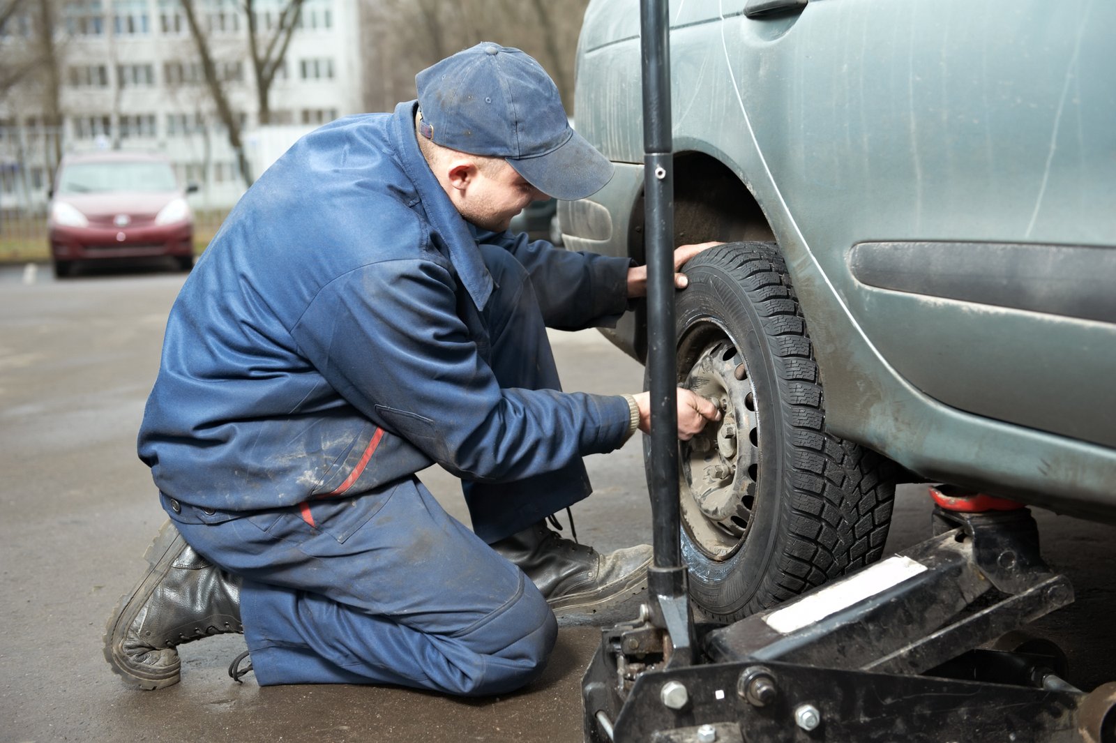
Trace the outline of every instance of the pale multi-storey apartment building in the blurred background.
{"label": "pale multi-storey apartment building in the blurred background", "polygon": [[[199,185],[200,208],[229,206],[244,190],[237,157],[215,114],[195,41],[180,0],[32,0],[57,2],[56,58],[60,132],[42,127],[41,88],[17,84],[0,100],[0,199],[46,200],[50,157],[97,147],[155,149]],[[256,0],[261,37],[270,36],[288,0]],[[270,89],[270,122],[261,126],[241,0],[194,0],[218,76],[242,125],[246,154],[258,176],[302,133],[358,113],[362,65],[358,3],[305,0],[297,30]],[[35,19],[0,28],[0,56],[29,42]]]}

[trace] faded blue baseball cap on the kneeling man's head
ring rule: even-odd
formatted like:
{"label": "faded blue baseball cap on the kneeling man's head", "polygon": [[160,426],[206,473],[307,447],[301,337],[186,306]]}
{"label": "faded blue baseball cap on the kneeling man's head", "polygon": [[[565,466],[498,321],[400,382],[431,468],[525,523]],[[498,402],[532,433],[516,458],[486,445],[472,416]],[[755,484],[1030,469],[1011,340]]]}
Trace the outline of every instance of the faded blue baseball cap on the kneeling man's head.
{"label": "faded blue baseball cap on the kneeling man's head", "polygon": [[613,164],[575,132],[558,87],[519,49],[482,41],[415,76],[421,133],[459,152],[503,157],[555,199],[599,191]]}

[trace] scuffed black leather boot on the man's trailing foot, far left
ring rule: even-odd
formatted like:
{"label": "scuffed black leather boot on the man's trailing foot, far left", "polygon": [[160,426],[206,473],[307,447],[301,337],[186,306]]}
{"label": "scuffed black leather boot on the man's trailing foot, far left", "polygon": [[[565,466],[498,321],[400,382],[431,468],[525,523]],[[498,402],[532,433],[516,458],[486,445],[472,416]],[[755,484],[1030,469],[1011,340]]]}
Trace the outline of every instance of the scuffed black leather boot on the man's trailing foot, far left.
{"label": "scuffed black leather boot on the man's trailing foot, far left", "polygon": [[151,568],[105,628],[105,659],[144,689],[179,683],[176,645],[242,633],[240,579],[198,554],[167,521],[144,556]]}

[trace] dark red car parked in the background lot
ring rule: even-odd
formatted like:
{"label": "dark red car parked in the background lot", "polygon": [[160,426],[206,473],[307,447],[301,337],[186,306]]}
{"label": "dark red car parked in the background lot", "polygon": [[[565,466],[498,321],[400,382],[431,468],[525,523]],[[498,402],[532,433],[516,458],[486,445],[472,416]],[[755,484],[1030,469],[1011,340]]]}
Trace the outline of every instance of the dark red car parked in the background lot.
{"label": "dark red car parked in the background lot", "polygon": [[194,262],[193,213],[165,156],[97,151],[62,157],[50,191],[47,232],[55,276],[78,261],[171,257]]}

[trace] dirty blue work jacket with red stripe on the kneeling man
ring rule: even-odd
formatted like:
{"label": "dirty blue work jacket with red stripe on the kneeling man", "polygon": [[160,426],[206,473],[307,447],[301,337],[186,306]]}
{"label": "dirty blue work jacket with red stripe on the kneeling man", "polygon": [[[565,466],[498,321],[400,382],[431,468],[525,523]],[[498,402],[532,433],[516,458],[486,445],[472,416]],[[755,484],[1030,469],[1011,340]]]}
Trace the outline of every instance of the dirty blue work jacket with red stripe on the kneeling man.
{"label": "dirty blue work jacket with red stripe on the kneeling man", "polygon": [[478,233],[414,135],[415,103],[302,137],[244,194],[171,310],[140,431],[160,491],[213,519],[359,494],[432,462],[507,482],[607,452],[623,397],[501,389],[479,347],[500,244],[548,325],[608,325],[626,259]]}

